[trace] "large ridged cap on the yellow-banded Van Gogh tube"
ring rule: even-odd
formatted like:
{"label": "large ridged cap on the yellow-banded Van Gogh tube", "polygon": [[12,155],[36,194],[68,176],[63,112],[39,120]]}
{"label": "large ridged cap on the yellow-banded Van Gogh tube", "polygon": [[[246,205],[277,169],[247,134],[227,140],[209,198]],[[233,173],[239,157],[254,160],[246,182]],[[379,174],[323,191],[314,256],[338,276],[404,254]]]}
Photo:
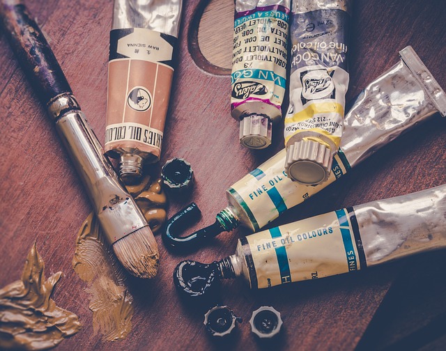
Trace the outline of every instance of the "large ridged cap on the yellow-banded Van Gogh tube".
{"label": "large ridged cap on the yellow-banded Van Gogh tube", "polygon": [[332,166],[330,148],[314,140],[300,140],[286,148],[285,171],[289,178],[305,185],[327,180]]}

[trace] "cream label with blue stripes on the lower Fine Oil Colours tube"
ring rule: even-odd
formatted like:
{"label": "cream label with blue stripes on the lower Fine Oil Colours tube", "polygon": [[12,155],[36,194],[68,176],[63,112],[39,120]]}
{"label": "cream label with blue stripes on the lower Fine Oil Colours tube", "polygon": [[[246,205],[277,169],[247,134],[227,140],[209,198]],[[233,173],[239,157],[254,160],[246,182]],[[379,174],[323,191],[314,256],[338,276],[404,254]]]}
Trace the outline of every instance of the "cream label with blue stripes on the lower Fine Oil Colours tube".
{"label": "cream label with blue stripes on the lower Fine Oil Colours tube", "polygon": [[[353,210],[321,214],[246,237],[257,287],[318,279],[365,267]],[[253,270],[254,271],[254,270]],[[255,279],[252,279],[252,281]]]}

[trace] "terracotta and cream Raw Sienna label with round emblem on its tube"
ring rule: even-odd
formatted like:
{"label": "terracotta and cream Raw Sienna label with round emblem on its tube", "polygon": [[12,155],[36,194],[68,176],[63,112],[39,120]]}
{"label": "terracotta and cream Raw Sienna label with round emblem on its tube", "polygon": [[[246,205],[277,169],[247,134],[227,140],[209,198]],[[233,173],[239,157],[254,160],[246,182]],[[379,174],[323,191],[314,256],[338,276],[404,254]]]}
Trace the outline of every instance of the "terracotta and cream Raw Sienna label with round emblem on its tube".
{"label": "terracotta and cream Raw Sienna label with round emblem on its tube", "polygon": [[150,29],[110,32],[106,152],[137,148],[160,158],[175,42]]}

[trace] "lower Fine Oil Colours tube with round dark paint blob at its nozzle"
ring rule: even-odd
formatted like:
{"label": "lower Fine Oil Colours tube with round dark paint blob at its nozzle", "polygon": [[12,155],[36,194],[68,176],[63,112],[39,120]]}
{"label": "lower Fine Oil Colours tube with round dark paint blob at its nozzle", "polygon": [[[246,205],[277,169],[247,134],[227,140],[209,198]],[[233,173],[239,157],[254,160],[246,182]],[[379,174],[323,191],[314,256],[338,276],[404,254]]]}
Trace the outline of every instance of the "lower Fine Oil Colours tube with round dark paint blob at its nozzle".
{"label": "lower Fine Oil Colours tube with round dark paint blob at its nozzle", "polygon": [[446,249],[446,185],[248,235],[238,241],[234,255],[219,262],[180,263],[174,279],[178,288],[196,296],[206,289],[194,285],[195,274],[199,279],[206,279],[206,274],[242,276],[253,289],[270,288],[356,272],[436,249]]}

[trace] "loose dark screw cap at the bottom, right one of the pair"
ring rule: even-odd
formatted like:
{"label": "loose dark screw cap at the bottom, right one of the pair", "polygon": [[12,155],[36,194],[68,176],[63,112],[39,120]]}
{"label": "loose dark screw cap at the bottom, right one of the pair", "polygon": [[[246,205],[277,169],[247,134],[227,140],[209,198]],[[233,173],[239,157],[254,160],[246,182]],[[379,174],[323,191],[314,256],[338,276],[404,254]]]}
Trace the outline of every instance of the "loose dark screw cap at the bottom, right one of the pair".
{"label": "loose dark screw cap at the bottom, right one of the pair", "polygon": [[280,312],[270,306],[261,306],[252,313],[249,324],[251,331],[259,338],[272,338],[279,334],[283,322]]}

